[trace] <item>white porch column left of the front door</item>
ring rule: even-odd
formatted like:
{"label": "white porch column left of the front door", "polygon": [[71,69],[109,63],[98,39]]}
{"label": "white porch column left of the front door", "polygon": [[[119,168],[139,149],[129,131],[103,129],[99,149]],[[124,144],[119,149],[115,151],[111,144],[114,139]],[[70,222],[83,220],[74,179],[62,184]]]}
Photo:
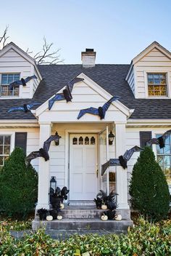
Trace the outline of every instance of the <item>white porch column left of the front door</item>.
{"label": "white porch column left of the front door", "polygon": [[[43,148],[43,143],[51,135],[51,122],[42,122],[40,124],[40,143],[39,148]],[[45,161],[43,157],[39,157],[38,166],[38,204],[36,209],[49,209],[49,161]]]}

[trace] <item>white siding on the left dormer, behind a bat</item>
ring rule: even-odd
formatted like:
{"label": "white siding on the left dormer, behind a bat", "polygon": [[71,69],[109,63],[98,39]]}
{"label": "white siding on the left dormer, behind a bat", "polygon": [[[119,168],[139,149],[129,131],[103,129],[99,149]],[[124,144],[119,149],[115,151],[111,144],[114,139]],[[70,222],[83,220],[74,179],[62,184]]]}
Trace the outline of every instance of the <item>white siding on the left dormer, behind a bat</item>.
{"label": "white siding on the left dormer, behind a bat", "polygon": [[[9,49],[0,57],[0,83],[1,73],[20,73],[20,79],[28,76],[36,75],[36,70],[28,60],[22,57],[19,53],[15,52],[14,49]],[[20,85],[20,96],[21,98],[31,98],[38,87],[39,79],[30,80],[26,87]],[[1,97],[3,99],[4,97]]]}

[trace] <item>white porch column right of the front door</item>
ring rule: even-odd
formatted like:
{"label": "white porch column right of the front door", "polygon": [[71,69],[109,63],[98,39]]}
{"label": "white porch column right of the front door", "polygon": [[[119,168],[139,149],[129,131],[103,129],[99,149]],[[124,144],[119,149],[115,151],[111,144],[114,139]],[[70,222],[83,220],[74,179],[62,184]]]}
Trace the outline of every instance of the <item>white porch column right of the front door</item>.
{"label": "white porch column right of the front door", "polygon": [[[126,129],[125,123],[115,122],[115,147],[116,158],[125,153],[126,148]],[[116,175],[116,191],[119,194],[117,196],[117,203],[119,209],[129,209],[128,205],[128,184],[127,184],[127,169],[117,167]]]}

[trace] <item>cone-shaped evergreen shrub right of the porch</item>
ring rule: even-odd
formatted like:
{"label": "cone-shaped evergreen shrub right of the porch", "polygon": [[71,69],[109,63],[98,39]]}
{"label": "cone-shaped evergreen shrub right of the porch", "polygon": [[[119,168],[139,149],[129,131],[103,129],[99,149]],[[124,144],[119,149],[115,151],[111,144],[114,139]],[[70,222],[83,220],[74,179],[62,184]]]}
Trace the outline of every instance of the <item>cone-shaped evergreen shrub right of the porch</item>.
{"label": "cone-shaped evergreen shrub right of the porch", "polygon": [[167,217],[169,188],[150,147],[144,148],[133,167],[130,196],[133,209],[138,209],[146,219],[154,221]]}

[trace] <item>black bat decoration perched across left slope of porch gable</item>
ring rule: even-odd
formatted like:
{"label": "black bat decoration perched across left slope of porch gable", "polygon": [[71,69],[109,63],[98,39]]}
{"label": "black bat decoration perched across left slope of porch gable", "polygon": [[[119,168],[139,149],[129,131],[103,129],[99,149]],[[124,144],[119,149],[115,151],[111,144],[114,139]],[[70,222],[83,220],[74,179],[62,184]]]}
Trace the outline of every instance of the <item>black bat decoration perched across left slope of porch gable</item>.
{"label": "black bat decoration perched across left slope of porch gable", "polygon": [[74,84],[78,83],[78,81],[83,81],[83,80],[84,79],[75,77],[74,79],[69,81],[62,93],[58,93],[57,95],[54,95],[54,97],[52,97],[49,100],[49,110],[51,110],[52,105],[54,105],[55,101],[58,101],[58,100],[67,100],[67,102],[71,101],[72,100],[71,92],[72,92],[72,88],[73,88]]}

